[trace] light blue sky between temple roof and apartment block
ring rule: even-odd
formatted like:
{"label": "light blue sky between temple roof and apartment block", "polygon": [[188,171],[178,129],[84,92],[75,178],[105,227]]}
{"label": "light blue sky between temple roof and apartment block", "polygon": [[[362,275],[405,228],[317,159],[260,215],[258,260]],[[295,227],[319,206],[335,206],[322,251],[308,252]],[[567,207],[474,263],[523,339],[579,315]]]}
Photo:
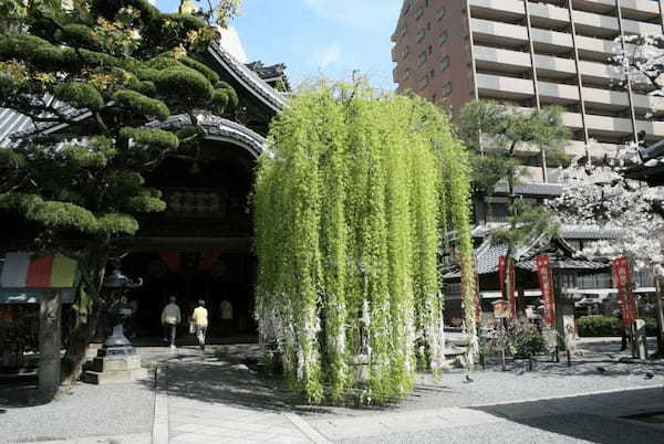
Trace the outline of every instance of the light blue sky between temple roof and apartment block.
{"label": "light blue sky between temple roof and apartment block", "polygon": [[[177,0],[157,0],[163,11]],[[350,80],[353,70],[393,89],[390,35],[402,0],[245,0],[232,21],[249,61],[286,63],[291,86],[320,75]]]}

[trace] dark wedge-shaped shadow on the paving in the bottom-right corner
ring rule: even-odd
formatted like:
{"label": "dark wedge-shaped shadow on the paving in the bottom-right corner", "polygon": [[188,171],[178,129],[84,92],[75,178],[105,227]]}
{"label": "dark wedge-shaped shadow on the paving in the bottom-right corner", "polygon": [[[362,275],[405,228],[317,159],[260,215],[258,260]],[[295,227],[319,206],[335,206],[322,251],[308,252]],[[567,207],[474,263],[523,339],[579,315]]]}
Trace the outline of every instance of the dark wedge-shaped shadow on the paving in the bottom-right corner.
{"label": "dark wedge-shaped shadow on the paving in the bottom-right corner", "polygon": [[664,423],[652,426],[627,417],[633,415],[634,411],[664,412],[662,388],[469,409],[529,427],[595,443],[660,443],[664,436]]}

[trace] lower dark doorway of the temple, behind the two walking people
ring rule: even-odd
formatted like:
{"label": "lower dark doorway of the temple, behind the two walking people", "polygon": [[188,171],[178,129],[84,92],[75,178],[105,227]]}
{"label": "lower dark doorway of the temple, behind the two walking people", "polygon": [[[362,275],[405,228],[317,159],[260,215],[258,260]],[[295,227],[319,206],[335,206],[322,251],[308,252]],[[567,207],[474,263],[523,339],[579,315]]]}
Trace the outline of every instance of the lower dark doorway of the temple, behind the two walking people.
{"label": "lower dark doorway of the temple, behind the two walking people", "polygon": [[199,299],[208,308],[210,343],[256,337],[252,317],[256,264],[251,255],[194,251],[135,253],[123,261],[123,267],[144,279],[143,287],[131,295],[136,313],[127,323],[127,334],[138,342],[155,342],[163,336],[160,314],[170,296],[177,298],[183,314],[179,343],[194,343],[187,320]]}

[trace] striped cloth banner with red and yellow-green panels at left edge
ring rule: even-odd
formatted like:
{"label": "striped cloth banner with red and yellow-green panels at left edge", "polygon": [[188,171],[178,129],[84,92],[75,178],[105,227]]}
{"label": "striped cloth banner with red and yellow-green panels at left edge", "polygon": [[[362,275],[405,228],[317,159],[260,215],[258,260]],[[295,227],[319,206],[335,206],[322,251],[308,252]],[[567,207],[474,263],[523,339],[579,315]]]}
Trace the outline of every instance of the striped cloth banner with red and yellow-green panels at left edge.
{"label": "striped cloth banner with red and yellow-green panels at left edge", "polygon": [[71,288],[76,282],[76,262],[62,254],[32,257],[32,253],[4,253],[0,268],[3,288]]}

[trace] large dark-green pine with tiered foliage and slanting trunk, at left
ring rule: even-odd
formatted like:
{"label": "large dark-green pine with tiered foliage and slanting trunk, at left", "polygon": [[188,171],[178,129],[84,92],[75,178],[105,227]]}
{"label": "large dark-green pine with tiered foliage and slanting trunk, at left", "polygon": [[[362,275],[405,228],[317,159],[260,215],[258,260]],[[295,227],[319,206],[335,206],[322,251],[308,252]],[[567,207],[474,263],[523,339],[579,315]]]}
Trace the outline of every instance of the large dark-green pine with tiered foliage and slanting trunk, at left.
{"label": "large dark-green pine with tiered foliage and slanting trunk, at left", "polygon": [[[210,21],[162,13],[146,0],[0,0],[0,107],[29,116],[35,133],[0,150],[0,210],[30,229],[31,247],[77,260],[81,316],[69,338],[64,379],[75,380],[98,314],[114,240],[137,216],[165,209],[143,173],[172,156],[195,158],[196,115],[224,115],[232,88],[205,65]],[[145,128],[190,116],[178,133]],[[45,131],[44,128],[60,128]],[[48,134],[46,134],[48,133]],[[85,316],[83,316],[85,314]]]}

